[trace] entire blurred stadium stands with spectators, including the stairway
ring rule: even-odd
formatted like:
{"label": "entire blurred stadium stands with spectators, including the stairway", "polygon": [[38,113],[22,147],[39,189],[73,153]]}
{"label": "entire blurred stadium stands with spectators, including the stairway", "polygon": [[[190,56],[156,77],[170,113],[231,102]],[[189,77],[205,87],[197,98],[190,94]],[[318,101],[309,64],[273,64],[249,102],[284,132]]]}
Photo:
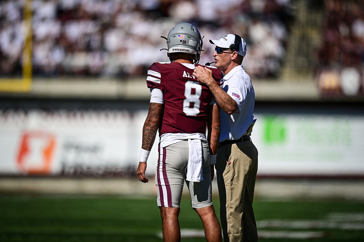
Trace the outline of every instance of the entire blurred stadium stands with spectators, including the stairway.
{"label": "entire blurred stadium stands with spectators, including the stairway", "polygon": [[[151,63],[169,61],[160,36],[186,21],[205,36],[201,64],[213,60],[208,39],[237,33],[248,45],[244,68],[258,82],[306,82],[320,96],[364,96],[362,0],[27,1],[33,78],[144,77]],[[22,75],[23,8],[22,0],[0,1],[0,78]]]}

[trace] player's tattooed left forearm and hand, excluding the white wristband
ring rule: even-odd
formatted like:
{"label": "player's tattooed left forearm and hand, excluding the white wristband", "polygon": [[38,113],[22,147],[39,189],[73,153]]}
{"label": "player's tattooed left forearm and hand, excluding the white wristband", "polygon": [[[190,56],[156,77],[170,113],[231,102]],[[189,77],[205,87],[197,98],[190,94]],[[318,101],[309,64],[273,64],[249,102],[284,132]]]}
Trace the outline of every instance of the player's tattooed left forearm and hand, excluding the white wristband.
{"label": "player's tattooed left forearm and hand, excluding the white wristband", "polygon": [[[159,121],[161,120],[161,114],[163,111],[163,105],[155,102],[149,104],[149,110],[147,118],[143,126],[143,138],[142,149],[150,151],[154,144],[155,136],[157,136]],[[147,154],[149,155],[149,153]],[[145,171],[147,169],[147,162],[139,162],[137,175],[141,182],[148,182],[149,179],[145,177]]]}

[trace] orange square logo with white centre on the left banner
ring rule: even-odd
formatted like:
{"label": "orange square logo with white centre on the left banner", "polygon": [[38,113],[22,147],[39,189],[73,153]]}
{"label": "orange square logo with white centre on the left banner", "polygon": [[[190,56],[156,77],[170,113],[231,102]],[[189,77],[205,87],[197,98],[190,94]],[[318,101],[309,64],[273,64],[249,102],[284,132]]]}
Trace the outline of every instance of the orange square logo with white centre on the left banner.
{"label": "orange square logo with white centre on the left banner", "polygon": [[55,143],[55,137],[49,133],[24,133],[17,157],[19,170],[27,174],[50,174]]}

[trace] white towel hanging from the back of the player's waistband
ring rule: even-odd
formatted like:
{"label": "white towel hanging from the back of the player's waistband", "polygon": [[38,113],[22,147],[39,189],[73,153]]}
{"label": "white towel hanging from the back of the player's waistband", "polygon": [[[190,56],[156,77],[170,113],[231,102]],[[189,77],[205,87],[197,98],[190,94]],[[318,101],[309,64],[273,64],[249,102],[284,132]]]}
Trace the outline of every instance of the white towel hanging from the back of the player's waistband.
{"label": "white towel hanging from the back of the player's waistband", "polygon": [[199,139],[188,140],[189,156],[187,163],[186,180],[200,182],[202,176],[202,143]]}

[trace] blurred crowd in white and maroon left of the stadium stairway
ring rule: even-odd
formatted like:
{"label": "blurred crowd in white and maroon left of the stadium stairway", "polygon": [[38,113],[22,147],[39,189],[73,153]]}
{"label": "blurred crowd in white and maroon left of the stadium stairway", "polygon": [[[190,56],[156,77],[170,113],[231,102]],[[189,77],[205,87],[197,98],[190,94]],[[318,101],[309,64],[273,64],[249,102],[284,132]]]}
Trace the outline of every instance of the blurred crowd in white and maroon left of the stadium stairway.
{"label": "blurred crowd in white and maroon left of the stadium stairway", "polygon": [[[21,74],[24,1],[0,1],[1,77]],[[209,39],[237,33],[248,46],[243,65],[250,76],[275,77],[292,6],[291,0],[32,0],[33,76],[145,75],[153,62],[169,61],[161,36],[189,22],[205,36],[200,64],[213,61]]]}

